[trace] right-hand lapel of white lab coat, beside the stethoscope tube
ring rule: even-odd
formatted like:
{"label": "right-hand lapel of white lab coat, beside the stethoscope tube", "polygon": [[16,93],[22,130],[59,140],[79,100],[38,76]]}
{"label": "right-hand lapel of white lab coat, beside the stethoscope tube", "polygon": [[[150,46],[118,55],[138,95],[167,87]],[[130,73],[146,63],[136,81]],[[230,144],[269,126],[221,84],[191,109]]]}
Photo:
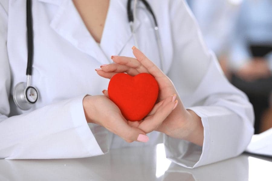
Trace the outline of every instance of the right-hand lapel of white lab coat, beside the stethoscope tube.
{"label": "right-hand lapel of white lab coat, beside the stethoscope tube", "polygon": [[[136,30],[139,26],[140,21],[135,18],[134,29]],[[100,47],[108,57],[119,55],[131,38],[132,33],[128,23],[127,1],[111,0]]]}

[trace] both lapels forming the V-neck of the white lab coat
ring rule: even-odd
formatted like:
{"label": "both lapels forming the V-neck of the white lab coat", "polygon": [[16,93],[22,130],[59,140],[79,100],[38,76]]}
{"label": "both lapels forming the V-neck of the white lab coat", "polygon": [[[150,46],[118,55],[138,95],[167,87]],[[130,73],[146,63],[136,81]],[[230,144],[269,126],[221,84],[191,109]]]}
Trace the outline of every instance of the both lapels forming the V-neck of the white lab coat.
{"label": "both lapels forming the V-neck of the white lab coat", "polygon": [[[92,56],[101,64],[110,63],[110,56],[119,55],[126,43],[132,38],[126,0],[110,0],[100,46],[87,30],[71,0],[39,1],[59,5],[59,9],[50,23],[52,29],[77,49]],[[140,21],[134,18],[134,30],[137,30],[140,24]]]}

